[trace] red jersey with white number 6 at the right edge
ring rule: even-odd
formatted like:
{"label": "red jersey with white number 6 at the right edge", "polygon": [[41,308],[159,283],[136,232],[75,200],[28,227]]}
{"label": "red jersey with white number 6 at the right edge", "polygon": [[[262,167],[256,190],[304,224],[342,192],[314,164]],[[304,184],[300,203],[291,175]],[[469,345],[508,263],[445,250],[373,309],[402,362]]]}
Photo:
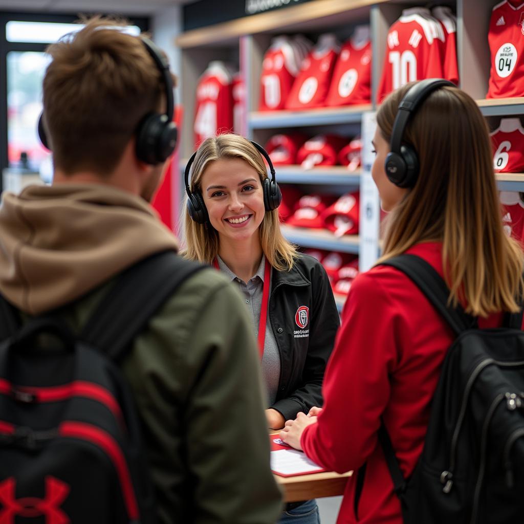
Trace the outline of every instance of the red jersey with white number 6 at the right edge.
{"label": "red jersey with white number 6 at the right edge", "polygon": [[500,173],[524,171],[524,129],[518,118],[503,118],[491,133],[493,169]]}

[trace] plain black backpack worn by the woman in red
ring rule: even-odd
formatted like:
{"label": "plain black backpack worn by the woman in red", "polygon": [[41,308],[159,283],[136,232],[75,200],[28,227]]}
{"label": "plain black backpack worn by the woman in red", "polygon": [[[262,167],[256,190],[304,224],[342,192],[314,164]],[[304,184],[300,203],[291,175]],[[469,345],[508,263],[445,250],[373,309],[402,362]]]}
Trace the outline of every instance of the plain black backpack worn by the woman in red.
{"label": "plain black backpack worn by the woman in red", "polygon": [[502,328],[481,330],[461,307],[447,307],[449,289],[421,258],[400,255],[383,265],[416,283],[456,334],[409,479],[384,424],[379,430],[405,524],[524,522],[522,311],[507,314]]}

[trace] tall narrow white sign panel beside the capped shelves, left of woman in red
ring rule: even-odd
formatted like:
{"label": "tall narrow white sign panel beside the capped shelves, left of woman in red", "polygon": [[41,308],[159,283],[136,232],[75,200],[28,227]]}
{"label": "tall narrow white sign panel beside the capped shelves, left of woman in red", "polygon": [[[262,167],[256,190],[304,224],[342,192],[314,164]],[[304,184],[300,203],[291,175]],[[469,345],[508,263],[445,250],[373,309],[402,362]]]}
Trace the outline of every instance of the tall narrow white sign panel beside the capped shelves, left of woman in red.
{"label": "tall narrow white sign panel beside the capped shelves, left of woman in red", "polygon": [[360,187],[360,248],[358,269],[367,271],[378,258],[378,234],[380,226],[380,200],[371,176],[375,160],[372,140],[377,127],[376,113],[362,115],[362,175]]}

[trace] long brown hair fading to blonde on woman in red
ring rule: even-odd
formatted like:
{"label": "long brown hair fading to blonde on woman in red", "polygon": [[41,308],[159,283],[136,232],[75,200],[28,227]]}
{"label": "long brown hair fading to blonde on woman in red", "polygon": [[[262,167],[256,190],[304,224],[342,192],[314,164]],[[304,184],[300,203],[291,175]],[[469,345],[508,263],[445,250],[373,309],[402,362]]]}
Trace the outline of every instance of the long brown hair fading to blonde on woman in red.
{"label": "long brown hair fading to blonde on woman in red", "polygon": [[[377,113],[387,141],[411,85],[391,93]],[[477,104],[457,88],[434,91],[410,118],[403,142],[418,152],[420,176],[388,217],[380,260],[419,242],[442,242],[451,304],[475,316],[519,311],[522,248],[503,230],[489,130]]]}

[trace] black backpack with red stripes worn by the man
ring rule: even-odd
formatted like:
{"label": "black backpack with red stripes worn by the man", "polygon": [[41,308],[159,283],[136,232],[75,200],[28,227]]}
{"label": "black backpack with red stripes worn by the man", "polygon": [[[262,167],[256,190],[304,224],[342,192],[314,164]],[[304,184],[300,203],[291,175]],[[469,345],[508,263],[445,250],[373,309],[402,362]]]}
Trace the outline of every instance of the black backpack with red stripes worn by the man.
{"label": "black backpack with red stripes worn by the man", "polygon": [[174,252],[140,261],[79,335],[59,311],[20,329],[0,297],[0,522],[156,521],[139,418],[116,363],[202,267]]}

